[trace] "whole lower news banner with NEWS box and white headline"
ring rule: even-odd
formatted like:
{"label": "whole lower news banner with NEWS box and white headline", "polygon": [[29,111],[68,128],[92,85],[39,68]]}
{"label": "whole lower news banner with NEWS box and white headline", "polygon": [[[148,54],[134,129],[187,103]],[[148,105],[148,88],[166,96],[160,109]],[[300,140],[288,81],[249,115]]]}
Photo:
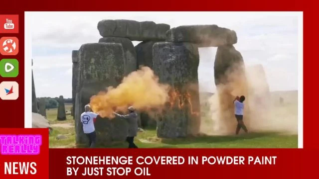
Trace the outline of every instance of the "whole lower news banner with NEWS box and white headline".
{"label": "whole lower news banner with NEWS box and white headline", "polygon": [[[318,150],[306,149],[50,149],[48,129],[0,129],[0,178],[104,179],[195,178],[245,179],[302,177],[316,171]],[[313,170],[314,169],[314,170]],[[282,172],[283,170],[289,172]],[[302,171],[302,172],[300,172]]]}

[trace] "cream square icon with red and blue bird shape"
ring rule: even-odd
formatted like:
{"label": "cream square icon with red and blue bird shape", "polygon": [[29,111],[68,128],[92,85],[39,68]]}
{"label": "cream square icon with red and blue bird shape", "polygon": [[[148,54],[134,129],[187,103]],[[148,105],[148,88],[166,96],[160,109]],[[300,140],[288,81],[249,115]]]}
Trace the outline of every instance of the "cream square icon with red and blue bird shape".
{"label": "cream square icon with red and blue bird shape", "polygon": [[16,82],[1,82],[0,98],[2,100],[15,100],[19,97],[19,85]]}

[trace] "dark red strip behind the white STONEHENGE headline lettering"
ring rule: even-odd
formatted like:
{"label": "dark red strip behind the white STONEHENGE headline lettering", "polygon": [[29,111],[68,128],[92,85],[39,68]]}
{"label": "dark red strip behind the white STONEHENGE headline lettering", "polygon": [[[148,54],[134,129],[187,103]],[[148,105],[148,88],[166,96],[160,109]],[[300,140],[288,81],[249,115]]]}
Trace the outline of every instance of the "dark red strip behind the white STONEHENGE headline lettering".
{"label": "dark red strip behind the white STONEHENGE headline lettering", "polygon": [[[219,179],[307,179],[306,175],[318,176],[317,161],[319,155],[315,150],[305,149],[50,149],[50,179],[105,179],[124,178],[121,176],[66,176],[67,167],[128,167],[128,166],[72,166],[66,165],[67,156],[277,156],[276,165],[131,165],[129,179],[196,179],[198,177]],[[135,160],[133,159],[133,163]],[[246,159],[247,160],[247,159]],[[245,161],[246,161],[245,160]],[[57,165],[59,164],[59,165]],[[199,162],[200,164],[200,162]],[[135,176],[134,168],[148,167],[151,176]],[[80,171],[80,169],[79,169]],[[314,177],[315,177],[314,176]],[[312,177],[311,177],[312,178]]]}

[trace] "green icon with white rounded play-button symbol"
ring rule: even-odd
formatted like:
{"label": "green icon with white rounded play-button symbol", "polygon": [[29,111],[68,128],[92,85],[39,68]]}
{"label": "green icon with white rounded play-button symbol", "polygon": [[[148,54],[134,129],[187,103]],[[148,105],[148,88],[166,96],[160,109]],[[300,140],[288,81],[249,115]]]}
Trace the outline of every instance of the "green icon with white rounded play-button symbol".
{"label": "green icon with white rounded play-button symbol", "polygon": [[16,59],[2,59],[0,61],[1,77],[17,77],[19,74],[19,62]]}

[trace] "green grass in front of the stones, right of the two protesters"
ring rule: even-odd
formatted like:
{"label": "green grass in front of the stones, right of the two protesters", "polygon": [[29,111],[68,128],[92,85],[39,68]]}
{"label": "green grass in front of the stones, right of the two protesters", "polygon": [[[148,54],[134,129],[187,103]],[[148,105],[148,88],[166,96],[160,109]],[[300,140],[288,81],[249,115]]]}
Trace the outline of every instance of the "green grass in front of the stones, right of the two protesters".
{"label": "green grass in front of the stones, right of the two protesters", "polygon": [[[140,140],[152,141],[143,143]],[[135,143],[140,148],[297,148],[297,135],[278,133],[250,133],[239,136],[203,136],[180,139],[158,139],[156,130],[139,133]],[[116,145],[127,148],[127,144]]]}

